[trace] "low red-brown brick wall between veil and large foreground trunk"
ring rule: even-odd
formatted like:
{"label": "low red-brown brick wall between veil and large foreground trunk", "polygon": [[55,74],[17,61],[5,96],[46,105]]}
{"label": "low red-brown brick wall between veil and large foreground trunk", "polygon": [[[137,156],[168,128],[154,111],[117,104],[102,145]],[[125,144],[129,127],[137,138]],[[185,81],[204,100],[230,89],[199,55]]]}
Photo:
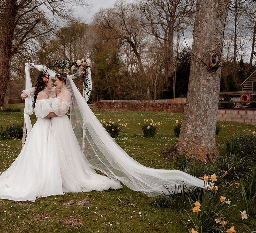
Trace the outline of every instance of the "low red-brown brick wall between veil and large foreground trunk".
{"label": "low red-brown brick wall between veil and large foreground trunk", "polygon": [[184,112],[186,103],[95,102],[95,111]]}

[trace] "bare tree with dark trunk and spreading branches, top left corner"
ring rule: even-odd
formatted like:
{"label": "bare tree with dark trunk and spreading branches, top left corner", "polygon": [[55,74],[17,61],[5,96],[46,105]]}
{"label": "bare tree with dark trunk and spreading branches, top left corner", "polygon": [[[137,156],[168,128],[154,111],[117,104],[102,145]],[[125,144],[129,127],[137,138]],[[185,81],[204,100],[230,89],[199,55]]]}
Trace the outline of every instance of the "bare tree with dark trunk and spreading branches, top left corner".
{"label": "bare tree with dark trunk and spreading branches, top left corner", "polygon": [[[16,54],[35,52],[39,37],[49,37],[58,18],[71,19],[70,4],[83,0],[2,0],[0,3],[0,109],[10,77],[10,62]],[[56,25],[56,24],[55,24]]]}

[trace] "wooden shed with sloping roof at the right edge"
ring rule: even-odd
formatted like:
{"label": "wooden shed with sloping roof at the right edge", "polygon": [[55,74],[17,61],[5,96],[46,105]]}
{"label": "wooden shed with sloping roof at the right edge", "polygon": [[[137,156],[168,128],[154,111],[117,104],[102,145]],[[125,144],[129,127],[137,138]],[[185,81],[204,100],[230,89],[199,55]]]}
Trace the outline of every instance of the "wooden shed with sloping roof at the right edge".
{"label": "wooden shed with sloping roof at the right edge", "polygon": [[242,93],[249,95],[249,101],[256,101],[256,70],[240,86]]}

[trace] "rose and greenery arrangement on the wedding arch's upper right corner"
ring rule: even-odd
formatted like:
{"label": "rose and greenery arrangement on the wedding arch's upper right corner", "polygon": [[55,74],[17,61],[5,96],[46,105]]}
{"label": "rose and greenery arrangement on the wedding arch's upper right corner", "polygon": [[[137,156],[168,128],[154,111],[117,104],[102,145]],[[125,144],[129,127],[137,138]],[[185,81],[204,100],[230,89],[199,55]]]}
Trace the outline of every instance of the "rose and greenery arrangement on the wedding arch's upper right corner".
{"label": "rose and greenery arrangement on the wedding arch's upper right corner", "polygon": [[60,59],[60,60],[55,60],[53,62],[53,67],[57,67],[62,70],[70,70],[72,73],[75,73],[75,75],[78,77],[80,74],[76,74],[76,72],[81,69],[81,74],[82,74],[82,79],[84,83],[84,91],[86,91],[86,95],[91,95],[91,89],[89,88],[90,81],[89,81],[89,71],[90,71],[90,65],[91,65],[91,60],[90,59],[85,59],[82,58],[77,61],[70,61],[69,59]]}

